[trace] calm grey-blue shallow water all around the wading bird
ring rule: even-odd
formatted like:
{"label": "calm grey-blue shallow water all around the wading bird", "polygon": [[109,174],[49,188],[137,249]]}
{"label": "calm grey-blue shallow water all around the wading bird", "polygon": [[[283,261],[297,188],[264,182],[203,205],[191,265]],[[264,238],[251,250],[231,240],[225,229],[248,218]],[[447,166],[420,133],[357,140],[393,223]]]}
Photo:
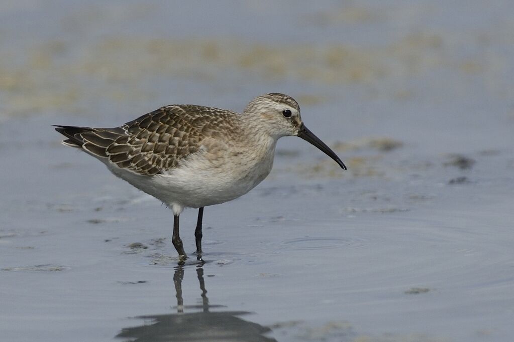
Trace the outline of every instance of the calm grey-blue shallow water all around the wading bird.
{"label": "calm grey-blue shallow water all around the wading bird", "polygon": [[[512,340],[512,5],[178,4],[0,5],[2,338]],[[261,185],[206,208],[203,266],[49,126],[269,91],[348,171],[281,139]]]}

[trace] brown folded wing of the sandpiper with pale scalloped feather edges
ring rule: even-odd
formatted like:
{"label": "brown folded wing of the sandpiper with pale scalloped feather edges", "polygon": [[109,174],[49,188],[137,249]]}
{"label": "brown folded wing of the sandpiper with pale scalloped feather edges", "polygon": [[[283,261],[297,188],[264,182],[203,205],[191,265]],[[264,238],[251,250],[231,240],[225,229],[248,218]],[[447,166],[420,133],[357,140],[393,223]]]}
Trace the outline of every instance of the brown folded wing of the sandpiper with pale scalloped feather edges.
{"label": "brown folded wing of the sandpiper with pale scalloped feather edges", "polygon": [[222,117],[235,114],[228,113],[194,105],[166,106],[121,127],[81,133],[82,147],[120,168],[155,175],[175,168],[181,159],[197,152],[206,136],[223,128],[219,125]]}

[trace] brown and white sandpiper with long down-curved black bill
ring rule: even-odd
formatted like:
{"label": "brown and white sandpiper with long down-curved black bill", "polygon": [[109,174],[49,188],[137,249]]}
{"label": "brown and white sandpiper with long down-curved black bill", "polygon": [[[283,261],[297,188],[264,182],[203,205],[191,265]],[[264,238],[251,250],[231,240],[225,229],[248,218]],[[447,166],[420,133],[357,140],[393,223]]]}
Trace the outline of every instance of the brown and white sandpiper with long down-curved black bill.
{"label": "brown and white sandpiper with long down-curved black bill", "polygon": [[296,135],[341,159],[302,122],[295,99],[255,97],[242,114],[197,105],[169,105],[115,128],[56,126],[63,144],[101,160],[112,173],[173,210],[178,264],[187,258],[179,216],[198,208],[196,255],[201,259],[204,207],[246,194],[271,171],[277,140]]}

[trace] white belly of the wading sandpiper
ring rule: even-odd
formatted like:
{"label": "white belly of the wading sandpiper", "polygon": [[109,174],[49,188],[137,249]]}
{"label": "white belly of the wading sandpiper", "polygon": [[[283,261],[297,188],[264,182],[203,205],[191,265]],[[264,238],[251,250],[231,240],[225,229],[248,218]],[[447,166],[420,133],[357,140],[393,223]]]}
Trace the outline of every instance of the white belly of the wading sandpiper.
{"label": "white belly of the wading sandpiper", "polygon": [[258,155],[249,151],[237,157],[227,154],[214,162],[199,154],[168,173],[154,176],[108,167],[114,174],[158,198],[179,214],[184,207],[211,206],[246,194],[271,171],[275,146],[273,143]]}

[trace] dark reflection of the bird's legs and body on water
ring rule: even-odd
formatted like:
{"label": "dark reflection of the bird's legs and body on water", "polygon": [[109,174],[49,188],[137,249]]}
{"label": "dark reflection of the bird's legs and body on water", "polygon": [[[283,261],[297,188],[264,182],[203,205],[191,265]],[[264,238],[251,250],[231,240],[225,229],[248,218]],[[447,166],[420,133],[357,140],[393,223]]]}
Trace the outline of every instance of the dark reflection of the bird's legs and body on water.
{"label": "dark reflection of the bird's legs and body on water", "polygon": [[[270,328],[241,319],[239,316],[249,314],[247,311],[214,311],[210,309],[225,308],[224,305],[210,305],[205,289],[204,269],[196,268],[196,275],[201,290],[201,305],[183,305],[182,279],[184,268],[175,268],[173,281],[177,296],[177,313],[139,316],[136,318],[152,320],[150,325],[124,328],[116,335],[131,342],[164,341],[237,341],[237,342],[277,342],[274,338],[264,336]],[[196,312],[187,313],[192,310]],[[201,311],[199,311],[201,310]]]}

